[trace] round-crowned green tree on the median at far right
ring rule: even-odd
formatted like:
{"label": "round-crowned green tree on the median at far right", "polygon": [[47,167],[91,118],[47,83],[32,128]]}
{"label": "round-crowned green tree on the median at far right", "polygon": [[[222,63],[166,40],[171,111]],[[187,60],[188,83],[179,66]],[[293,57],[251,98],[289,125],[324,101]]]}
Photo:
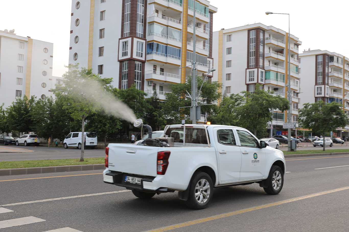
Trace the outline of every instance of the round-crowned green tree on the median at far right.
{"label": "round-crowned green tree on the median at far right", "polygon": [[337,102],[317,101],[303,105],[303,109],[299,111],[299,122],[303,128],[317,131],[322,135],[324,138],[322,150],[325,150],[325,134],[346,126],[348,116],[343,112],[342,105]]}

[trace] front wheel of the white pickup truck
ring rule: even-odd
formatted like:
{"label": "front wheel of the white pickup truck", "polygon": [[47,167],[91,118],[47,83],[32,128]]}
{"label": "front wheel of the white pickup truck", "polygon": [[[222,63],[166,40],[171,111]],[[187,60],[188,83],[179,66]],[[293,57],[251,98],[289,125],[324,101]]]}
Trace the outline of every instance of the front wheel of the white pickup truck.
{"label": "front wheel of the white pickup truck", "polygon": [[283,186],[283,172],[279,166],[273,165],[268,176],[268,187],[263,188],[270,195],[279,194]]}

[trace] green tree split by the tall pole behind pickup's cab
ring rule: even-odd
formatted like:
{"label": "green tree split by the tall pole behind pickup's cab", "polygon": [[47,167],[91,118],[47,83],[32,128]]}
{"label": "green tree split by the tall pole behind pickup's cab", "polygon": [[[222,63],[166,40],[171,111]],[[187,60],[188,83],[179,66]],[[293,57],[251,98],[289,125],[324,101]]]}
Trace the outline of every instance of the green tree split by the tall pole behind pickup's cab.
{"label": "green tree split by the tall pole behind pickup's cab", "polygon": [[[198,105],[213,104],[201,106],[201,112],[211,114],[217,108],[214,103],[221,98],[221,93],[218,92],[221,84],[218,82],[203,82],[202,77],[197,78],[197,83],[198,91],[203,83],[201,92],[198,93]],[[191,98],[188,93],[191,94],[191,77],[187,78],[186,83],[171,85],[171,93],[166,93],[166,101],[163,105],[168,122],[180,123],[181,119],[190,121],[190,107],[179,109],[179,107],[191,106]]]}

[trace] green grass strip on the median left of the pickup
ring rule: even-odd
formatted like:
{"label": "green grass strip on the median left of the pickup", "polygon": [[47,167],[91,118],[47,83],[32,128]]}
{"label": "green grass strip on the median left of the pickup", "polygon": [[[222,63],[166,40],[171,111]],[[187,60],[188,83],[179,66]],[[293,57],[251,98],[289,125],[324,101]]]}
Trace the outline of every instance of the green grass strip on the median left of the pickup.
{"label": "green grass strip on the median left of the pickup", "polygon": [[66,166],[66,165],[86,165],[86,164],[103,164],[104,163],[104,157],[101,157],[101,158],[85,158],[84,162],[79,162],[79,160],[80,159],[0,161],[0,169],[37,168],[37,167]]}

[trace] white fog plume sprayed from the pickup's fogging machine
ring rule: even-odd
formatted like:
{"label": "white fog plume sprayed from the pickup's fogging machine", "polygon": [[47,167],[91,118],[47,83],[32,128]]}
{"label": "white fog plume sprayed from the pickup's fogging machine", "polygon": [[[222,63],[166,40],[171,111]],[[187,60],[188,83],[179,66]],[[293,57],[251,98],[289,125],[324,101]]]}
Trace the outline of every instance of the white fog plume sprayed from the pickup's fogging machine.
{"label": "white fog plume sprayed from the pickup's fogging machine", "polygon": [[84,98],[94,103],[96,108],[104,109],[106,114],[124,119],[132,124],[137,120],[132,109],[112,93],[106,92],[95,80],[83,80],[79,86],[79,92],[83,93]]}

